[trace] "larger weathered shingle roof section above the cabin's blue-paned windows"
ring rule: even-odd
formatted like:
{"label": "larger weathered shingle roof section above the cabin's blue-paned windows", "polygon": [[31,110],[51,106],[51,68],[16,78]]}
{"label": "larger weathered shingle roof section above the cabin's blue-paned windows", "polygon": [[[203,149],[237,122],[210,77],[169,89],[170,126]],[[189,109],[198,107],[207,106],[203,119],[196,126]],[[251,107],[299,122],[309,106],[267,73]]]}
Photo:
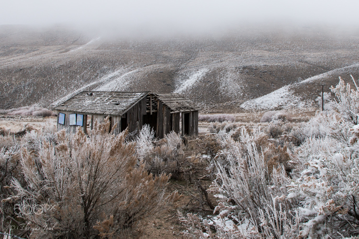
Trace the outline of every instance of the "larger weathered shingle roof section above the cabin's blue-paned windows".
{"label": "larger weathered shingle roof section above the cabin's blue-paned windows", "polygon": [[88,114],[122,115],[148,93],[149,91],[82,91],[54,109]]}

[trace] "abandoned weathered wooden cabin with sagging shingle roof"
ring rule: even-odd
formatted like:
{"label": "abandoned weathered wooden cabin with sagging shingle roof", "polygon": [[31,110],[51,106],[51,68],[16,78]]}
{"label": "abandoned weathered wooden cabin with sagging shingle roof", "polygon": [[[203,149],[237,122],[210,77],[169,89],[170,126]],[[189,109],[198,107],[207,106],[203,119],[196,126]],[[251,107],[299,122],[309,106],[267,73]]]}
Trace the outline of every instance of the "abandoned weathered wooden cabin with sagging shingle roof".
{"label": "abandoned weathered wooden cabin with sagging shingle roof", "polygon": [[148,124],[158,138],[163,138],[172,130],[198,137],[200,109],[190,99],[176,93],[82,91],[54,107],[54,110],[57,110],[57,130],[66,128],[75,133],[76,128],[81,126],[87,133],[93,128],[95,119],[102,123],[109,116],[110,128],[117,123],[114,134],[127,127],[129,132],[138,132],[144,124]]}

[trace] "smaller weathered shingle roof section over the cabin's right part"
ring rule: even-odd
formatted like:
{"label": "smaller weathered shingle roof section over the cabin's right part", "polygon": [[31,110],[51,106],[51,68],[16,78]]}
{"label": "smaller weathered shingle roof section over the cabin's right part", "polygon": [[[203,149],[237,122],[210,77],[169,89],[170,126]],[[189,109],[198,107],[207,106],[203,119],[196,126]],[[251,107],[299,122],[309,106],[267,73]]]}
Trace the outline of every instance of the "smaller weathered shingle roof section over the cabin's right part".
{"label": "smaller weathered shingle roof section over the cabin's right part", "polygon": [[171,113],[201,110],[194,102],[178,93],[154,94],[151,95],[162,101],[171,109]]}

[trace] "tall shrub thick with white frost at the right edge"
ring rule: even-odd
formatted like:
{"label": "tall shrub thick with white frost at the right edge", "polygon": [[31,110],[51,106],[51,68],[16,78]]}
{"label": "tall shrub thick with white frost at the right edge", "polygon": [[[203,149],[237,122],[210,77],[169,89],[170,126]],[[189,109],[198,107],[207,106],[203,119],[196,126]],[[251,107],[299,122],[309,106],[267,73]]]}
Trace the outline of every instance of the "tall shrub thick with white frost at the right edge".
{"label": "tall shrub thick with white frost at the right edge", "polygon": [[[355,82],[354,82],[355,83]],[[357,125],[353,113],[358,111],[357,91],[350,91],[340,79],[332,90],[337,96],[340,119],[317,114],[322,129],[298,148],[296,180],[290,183],[288,198],[300,201],[297,206],[302,238],[342,238],[358,236],[359,151],[355,140]],[[333,114],[333,113],[331,113]],[[309,122],[309,129],[316,123]]]}

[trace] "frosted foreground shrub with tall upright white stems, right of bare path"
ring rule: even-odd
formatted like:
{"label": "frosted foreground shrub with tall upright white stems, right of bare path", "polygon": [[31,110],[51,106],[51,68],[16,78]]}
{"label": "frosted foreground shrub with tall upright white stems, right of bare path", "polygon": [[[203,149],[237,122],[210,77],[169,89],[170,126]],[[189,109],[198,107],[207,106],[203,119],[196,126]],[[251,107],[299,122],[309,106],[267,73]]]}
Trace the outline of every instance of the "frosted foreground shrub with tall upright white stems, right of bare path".
{"label": "frosted foreground shrub with tall upright white stems, right of bare path", "polygon": [[[265,137],[265,132],[260,129],[249,134],[242,128],[238,142],[224,143],[227,148],[220,154],[228,163],[215,162],[215,182],[224,199],[215,211],[225,212],[223,217],[227,220],[236,218],[237,230],[243,236],[254,230],[253,237],[294,238],[293,233],[298,233],[298,221],[297,215],[290,211],[295,208],[295,200],[285,198],[285,185],[291,180],[278,156],[274,158],[270,152],[261,152],[264,147],[258,149],[255,142]],[[230,141],[228,137],[224,140]],[[285,160],[289,159],[288,154]]]}

